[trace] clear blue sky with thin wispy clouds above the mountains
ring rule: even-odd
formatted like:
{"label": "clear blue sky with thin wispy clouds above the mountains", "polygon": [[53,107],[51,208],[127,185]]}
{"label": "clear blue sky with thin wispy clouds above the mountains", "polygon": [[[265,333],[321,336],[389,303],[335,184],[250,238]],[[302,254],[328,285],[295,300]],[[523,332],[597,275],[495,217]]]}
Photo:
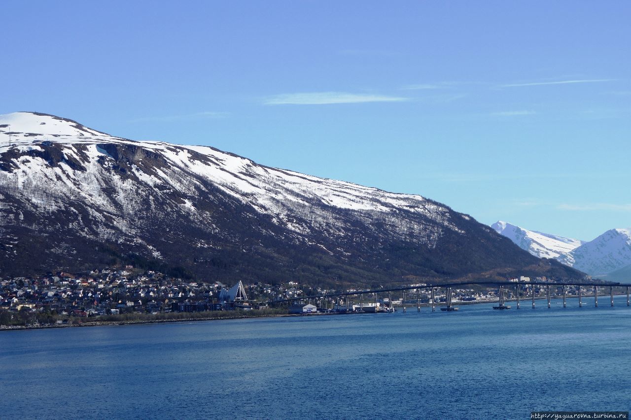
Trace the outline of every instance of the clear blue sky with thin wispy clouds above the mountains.
{"label": "clear blue sky with thin wispy clouds above the mountains", "polygon": [[591,240],[631,226],[628,1],[15,1],[0,114],[421,194]]}

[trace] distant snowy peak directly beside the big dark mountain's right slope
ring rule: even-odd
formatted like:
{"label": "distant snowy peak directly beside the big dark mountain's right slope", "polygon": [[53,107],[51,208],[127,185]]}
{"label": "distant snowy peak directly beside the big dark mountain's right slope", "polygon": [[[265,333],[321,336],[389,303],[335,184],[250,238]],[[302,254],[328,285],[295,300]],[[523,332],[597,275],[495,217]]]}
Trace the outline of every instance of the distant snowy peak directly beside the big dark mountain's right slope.
{"label": "distant snowy peak directly beside the big dark mountain's right slope", "polygon": [[566,255],[584,242],[577,239],[527,230],[505,221],[491,225],[497,233],[506,236],[520,248],[539,258],[555,258]]}

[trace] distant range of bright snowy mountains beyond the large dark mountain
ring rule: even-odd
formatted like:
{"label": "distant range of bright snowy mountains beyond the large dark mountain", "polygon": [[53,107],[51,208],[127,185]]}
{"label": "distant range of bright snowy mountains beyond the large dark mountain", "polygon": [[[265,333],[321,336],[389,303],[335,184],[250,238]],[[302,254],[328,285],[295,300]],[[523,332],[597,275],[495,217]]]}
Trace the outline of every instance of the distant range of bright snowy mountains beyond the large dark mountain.
{"label": "distant range of bright snowy mountains beyond the large dark mountain", "polygon": [[584,242],[531,231],[498,221],[491,226],[524,250],[540,258],[554,258],[565,265],[608,280],[628,280],[631,271],[631,229],[611,229]]}

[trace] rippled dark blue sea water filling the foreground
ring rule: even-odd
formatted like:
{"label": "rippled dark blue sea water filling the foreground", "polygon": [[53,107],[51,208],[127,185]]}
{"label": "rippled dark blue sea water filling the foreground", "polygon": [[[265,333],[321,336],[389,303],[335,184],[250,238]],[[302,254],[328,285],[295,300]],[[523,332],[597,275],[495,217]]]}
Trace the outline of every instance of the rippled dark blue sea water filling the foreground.
{"label": "rippled dark blue sea water filling the foreground", "polygon": [[0,332],[1,419],[528,419],[631,408],[626,298]]}

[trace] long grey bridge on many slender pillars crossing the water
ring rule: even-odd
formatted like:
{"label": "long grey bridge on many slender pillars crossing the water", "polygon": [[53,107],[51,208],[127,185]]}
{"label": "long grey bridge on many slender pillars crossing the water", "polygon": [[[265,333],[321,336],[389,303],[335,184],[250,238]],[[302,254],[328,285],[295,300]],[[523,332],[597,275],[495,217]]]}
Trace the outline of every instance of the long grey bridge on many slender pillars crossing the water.
{"label": "long grey bridge on many slender pillars crossing the water", "polygon": [[[466,282],[457,282],[457,283],[441,283],[441,284],[423,284],[423,285],[415,285],[415,286],[404,286],[400,288],[382,288],[382,289],[366,289],[366,290],[355,290],[355,291],[346,291],[340,293],[324,293],[321,295],[312,295],[312,296],[297,296],[295,298],[286,298],[286,299],[278,299],[268,301],[268,305],[278,306],[278,305],[289,305],[290,303],[298,303],[302,301],[311,301],[314,300],[321,304],[322,300],[324,300],[326,307],[324,309],[328,310],[328,303],[331,302],[331,310],[333,310],[333,304],[335,301],[344,301],[346,304],[345,311],[339,312],[350,312],[349,309],[349,301],[351,296],[358,296],[360,301],[360,312],[363,312],[363,297],[364,295],[372,296],[374,300],[374,308],[376,312],[377,308],[377,296],[379,294],[387,293],[389,308],[392,308],[392,293],[401,293],[402,295],[402,303],[403,303],[403,312],[406,312],[406,292],[411,293],[412,296],[416,295],[416,308],[418,312],[421,310],[421,291],[429,291],[429,303],[432,306],[432,312],[436,310],[436,306],[444,306],[440,309],[442,311],[452,311],[457,310],[455,306],[452,305],[452,289],[454,288],[463,288],[464,286],[482,286],[482,287],[494,287],[497,288],[497,296],[498,296],[498,306],[493,306],[493,309],[510,309],[510,306],[505,305],[505,295],[507,292],[513,293],[513,298],[510,300],[515,300],[517,303],[517,309],[521,306],[520,300],[531,300],[533,309],[535,308],[535,301],[547,298],[548,308],[550,308],[550,288],[557,288],[556,292],[558,293],[558,288],[562,288],[561,295],[563,296],[563,308],[567,307],[567,296],[577,297],[579,299],[579,307],[583,306],[583,298],[588,298],[592,296],[594,298],[594,306],[598,307],[598,295],[599,288],[609,289],[608,295],[610,296],[610,305],[613,306],[613,296],[614,296],[614,288],[616,291],[620,291],[620,289],[625,290],[627,293],[627,306],[630,306],[629,300],[629,288],[631,284],[627,283],[585,283],[585,282],[573,282],[573,283],[560,283],[560,282],[548,282],[548,281],[526,281],[526,282],[509,282],[509,281],[466,281]],[[545,296],[537,296],[536,289],[545,289]],[[575,294],[569,295],[569,289],[575,288]],[[440,291],[440,289],[445,289],[445,301],[444,305],[437,305],[436,301],[436,292]],[[583,294],[584,289],[586,289],[586,294]],[[593,289],[593,293],[587,293],[590,289]],[[427,294],[427,293],[426,293]],[[619,294],[619,293],[618,293]],[[409,295],[408,295],[409,296]],[[606,296],[602,295],[601,296]],[[557,295],[557,298],[560,297]],[[484,301],[484,303],[489,303],[490,301]],[[479,303],[482,303],[481,301]],[[367,306],[368,307],[368,306]],[[339,309],[339,305],[338,305]]]}

